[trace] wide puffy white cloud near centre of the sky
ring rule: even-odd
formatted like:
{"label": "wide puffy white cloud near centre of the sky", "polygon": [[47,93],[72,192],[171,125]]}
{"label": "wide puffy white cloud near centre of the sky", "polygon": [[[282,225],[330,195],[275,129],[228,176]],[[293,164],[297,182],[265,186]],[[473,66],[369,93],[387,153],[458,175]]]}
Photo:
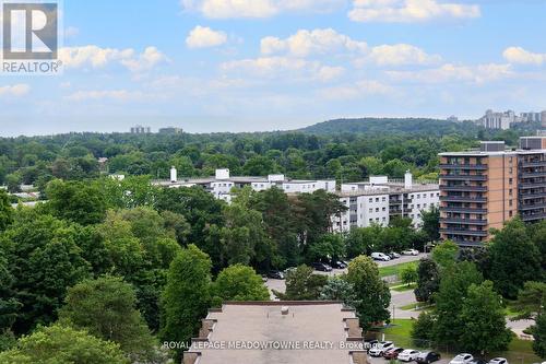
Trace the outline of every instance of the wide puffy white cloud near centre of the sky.
{"label": "wide puffy white cloud near centre of the sky", "polygon": [[299,30],[286,39],[265,37],[262,38],[260,46],[263,55],[287,52],[295,57],[307,57],[311,54],[325,55],[335,51],[364,52],[367,49],[366,42],[353,40],[347,35],[340,34],[332,28]]}

